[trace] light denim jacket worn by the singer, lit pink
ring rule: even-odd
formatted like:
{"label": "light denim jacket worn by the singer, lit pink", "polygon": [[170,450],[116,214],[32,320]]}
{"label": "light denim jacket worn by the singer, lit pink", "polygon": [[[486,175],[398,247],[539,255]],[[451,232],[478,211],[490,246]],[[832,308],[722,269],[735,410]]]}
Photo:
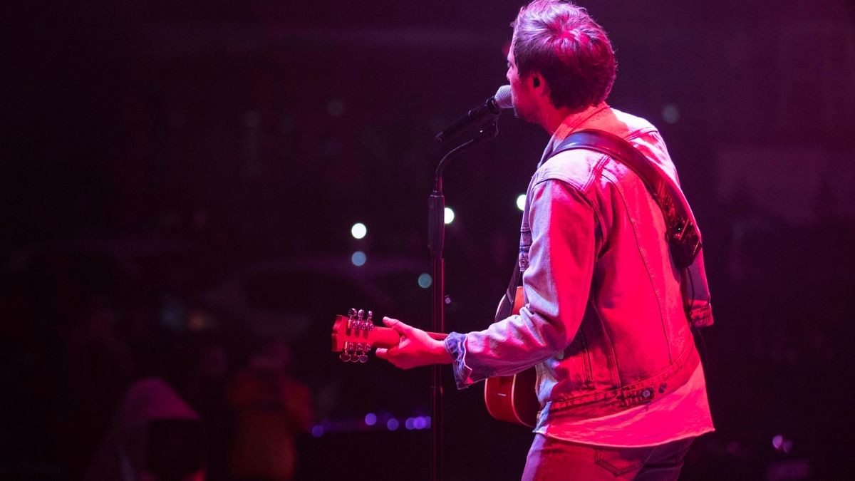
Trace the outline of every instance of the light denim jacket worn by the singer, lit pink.
{"label": "light denim jacket worn by the singer, lit pink", "polygon": [[[573,125],[570,125],[573,123]],[[528,186],[520,236],[524,306],[486,330],[451,333],[458,388],[532,365],[550,422],[587,419],[653,401],[686,383],[699,363],[669,255],[662,211],[634,172],[598,152],[551,156],[575,130],[628,140],[679,183],[657,129],[601,105],[565,121]],[[691,317],[711,324],[702,253]]]}

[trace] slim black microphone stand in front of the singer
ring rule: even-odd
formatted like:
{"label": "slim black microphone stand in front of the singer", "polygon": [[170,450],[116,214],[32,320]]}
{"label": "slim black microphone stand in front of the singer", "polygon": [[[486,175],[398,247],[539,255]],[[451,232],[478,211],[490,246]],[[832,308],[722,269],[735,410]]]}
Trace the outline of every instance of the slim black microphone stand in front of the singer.
{"label": "slim black microphone stand in front of the singer", "polygon": [[[445,196],[442,193],[442,174],[445,165],[453,157],[483,140],[490,140],[498,134],[498,116],[493,117],[463,144],[451,149],[442,157],[433,176],[433,193],[428,198],[428,249],[431,253],[431,330],[445,332],[445,259],[442,252],[445,247]],[[449,300],[450,301],[450,300]],[[431,382],[431,480],[442,479],[442,371],[440,365],[433,365]]]}

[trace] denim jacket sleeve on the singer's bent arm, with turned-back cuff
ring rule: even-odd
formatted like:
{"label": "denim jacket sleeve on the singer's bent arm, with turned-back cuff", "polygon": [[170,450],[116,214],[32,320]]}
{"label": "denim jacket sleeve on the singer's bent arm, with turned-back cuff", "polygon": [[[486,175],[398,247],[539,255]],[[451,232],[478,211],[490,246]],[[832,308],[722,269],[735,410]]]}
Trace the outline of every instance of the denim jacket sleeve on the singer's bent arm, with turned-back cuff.
{"label": "denim jacket sleeve on the singer's bent arm, with turned-back cuff", "polygon": [[530,227],[531,245],[521,246],[519,259],[525,305],[486,330],[448,336],[458,389],[554,356],[581,323],[598,242],[593,206],[574,185],[550,178],[535,178],[528,199],[523,230]]}

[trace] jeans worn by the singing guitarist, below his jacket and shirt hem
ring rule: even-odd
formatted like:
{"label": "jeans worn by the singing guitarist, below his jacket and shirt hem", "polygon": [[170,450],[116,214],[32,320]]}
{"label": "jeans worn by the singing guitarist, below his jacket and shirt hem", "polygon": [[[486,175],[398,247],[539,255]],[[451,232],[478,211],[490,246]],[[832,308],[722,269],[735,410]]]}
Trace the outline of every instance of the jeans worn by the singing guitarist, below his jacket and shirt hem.
{"label": "jeans worn by the singing guitarist, below his jacket and shirt hem", "polygon": [[694,438],[647,448],[605,448],[535,435],[522,481],[673,481]]}

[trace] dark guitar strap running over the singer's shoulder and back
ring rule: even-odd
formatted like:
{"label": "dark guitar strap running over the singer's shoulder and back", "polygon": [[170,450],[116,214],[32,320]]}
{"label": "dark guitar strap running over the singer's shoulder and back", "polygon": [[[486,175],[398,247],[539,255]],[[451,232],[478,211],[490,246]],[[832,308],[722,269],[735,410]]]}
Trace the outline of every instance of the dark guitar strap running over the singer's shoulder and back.
{"label": "dark guitar strap running over the singer's shoulder and back", "polygon": [[[670,252],[675,265],[681,270],[681,291],[687,318],[695,327],[711,325],[713,319],[710,292],[706,282],[704,258],[701,255],[700,232],[686,196],[676,182],[627,140],[615,134],[602,130],[580,130],[570,134],[558,144],[550,157],[570,149],[587,149],[608,155],[639,175],[653,200],[662,210]],[[516,288],[521,282],[522,276],[519,259],[517,259],[508,289],[496,312],[497,320],[510,315]]]}

